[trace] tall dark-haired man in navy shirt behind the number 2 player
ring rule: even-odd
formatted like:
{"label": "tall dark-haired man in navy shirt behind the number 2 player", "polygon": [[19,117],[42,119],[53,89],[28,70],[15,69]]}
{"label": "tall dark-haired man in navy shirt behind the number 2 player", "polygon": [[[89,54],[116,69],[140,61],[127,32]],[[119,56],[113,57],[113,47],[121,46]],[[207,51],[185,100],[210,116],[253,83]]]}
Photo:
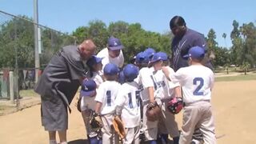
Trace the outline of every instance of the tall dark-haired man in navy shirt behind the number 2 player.
{"label": "tall dark-haired man in navy shirt behind the number 2 player", "polygon": [[[174,34],[173,41],[171,42],[174,71],[177,71],[181,67],[189,66],[186,59],[182,57],[188,53],[191,47],[200,46],[207,51],[204,35],[187,28],[186,22],[181,16],[174,16],[174,18],[170,19],[170,30]],[[204,58],[203,63],[213,70],[213,66],[207,56]]]}

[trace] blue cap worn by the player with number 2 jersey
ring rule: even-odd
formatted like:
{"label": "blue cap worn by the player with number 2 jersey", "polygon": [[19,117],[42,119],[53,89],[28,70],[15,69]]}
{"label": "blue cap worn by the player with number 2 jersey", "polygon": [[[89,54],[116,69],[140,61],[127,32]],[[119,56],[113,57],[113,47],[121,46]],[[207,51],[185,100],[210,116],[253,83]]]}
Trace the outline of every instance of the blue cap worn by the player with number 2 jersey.
{"label": "blue cap worn by the player with number 2 jersey", "polygon": [[188,54],[184,55],[183,58],[194,58],[202,59],[205,56],[205,50],[200,46],[191,47]]}

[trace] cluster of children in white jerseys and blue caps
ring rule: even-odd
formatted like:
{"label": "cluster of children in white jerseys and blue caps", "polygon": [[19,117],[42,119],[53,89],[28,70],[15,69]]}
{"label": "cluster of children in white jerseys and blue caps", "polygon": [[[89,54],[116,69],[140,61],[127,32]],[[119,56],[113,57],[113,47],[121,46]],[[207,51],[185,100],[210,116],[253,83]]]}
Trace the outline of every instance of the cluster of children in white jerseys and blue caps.
{"label": "cluster of children in white jerseys and blue caps", "polygon": [[[82,82],[80,93],[82,118],[90,143],[119,142],[112,126],[115,116],[125,125],[126,137],[122,139],[125,144],[140,143],[141,133],[150,144],[167,143],[169,135],[174,144],[190,143],[196,127],[201,130],[204,142],[215,143],[210,107],[214,74],[200,63],[204,54],[201,47],[191,48],[185,56],[191,66],[176,73],[170,68],[167,54],[152,48],[138,53],[134,63],[127,64],[122,70],[112,63],[102,70],[102,58],[90,58],[87,66],[91,78]],[[185,105],[181,134],[174,114],[167,109],[173,97],[182,97]],[[161,109],[161,114],[154,120],[146,116],[146,110],[152,104]],[[102,119],[101,130],[91,128],[89,123],[93,115]]]}

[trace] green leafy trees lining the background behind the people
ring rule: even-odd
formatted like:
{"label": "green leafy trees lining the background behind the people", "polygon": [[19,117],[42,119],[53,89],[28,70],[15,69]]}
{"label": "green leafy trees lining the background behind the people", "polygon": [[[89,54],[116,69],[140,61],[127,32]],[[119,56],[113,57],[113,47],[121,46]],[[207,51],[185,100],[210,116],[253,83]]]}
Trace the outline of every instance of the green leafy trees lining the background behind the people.
{"label": "green leafy trees lining the background behind the people", "polygon": [[[26,16],[21,16],[27,18]],[[239,25],[234,20],[233,30],[230,32],[232,46],[221,47],[216,42],[214,29],[207,34],[207,44],[210,54],[214,54],[214,66],[225,66],[226,70],[230,65],[241,67],[248,71],[256,66],[256,27],[253,22]],[[86,38],[93,39],[98,51],[106,47],[107,39],[110,36],[120,38],[125,46],[126,63],[138,52],[152,47],[157,51],[164,51],[170,54],[170,42],[173,34],[167,31],[159,34],[146,31],[140,23],[127,23],[123,21],[110,22],[109,26],[100,20],[90,21],[88,26],[80,26],[74,32],[62,34],[58,31],[42,28],[42,54],[40,63],[42,66],[50,61],[62,46],[79,44]],[[222,38],[226,42],[227,34],[223,33]],[[34,24],[20,18],[11,18],[0,25],[0,67],[14,68],[15,60],[18,60],[18,67],[34,67]]]}

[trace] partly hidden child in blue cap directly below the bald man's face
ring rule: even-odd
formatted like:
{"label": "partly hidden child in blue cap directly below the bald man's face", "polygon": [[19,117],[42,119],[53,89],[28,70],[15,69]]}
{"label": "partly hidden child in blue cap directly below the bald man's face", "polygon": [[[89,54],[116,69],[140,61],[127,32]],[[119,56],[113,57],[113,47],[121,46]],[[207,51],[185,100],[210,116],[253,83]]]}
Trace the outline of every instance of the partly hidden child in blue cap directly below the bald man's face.
{"label": "partly hidden child in blue cap directly below the bald man's face", "polygon": [[90,77],[94,80],[98,86],[103,82],[102,78],[102,58],[98,58],[96,55],[93,55],[86,65],[90,68]]}

